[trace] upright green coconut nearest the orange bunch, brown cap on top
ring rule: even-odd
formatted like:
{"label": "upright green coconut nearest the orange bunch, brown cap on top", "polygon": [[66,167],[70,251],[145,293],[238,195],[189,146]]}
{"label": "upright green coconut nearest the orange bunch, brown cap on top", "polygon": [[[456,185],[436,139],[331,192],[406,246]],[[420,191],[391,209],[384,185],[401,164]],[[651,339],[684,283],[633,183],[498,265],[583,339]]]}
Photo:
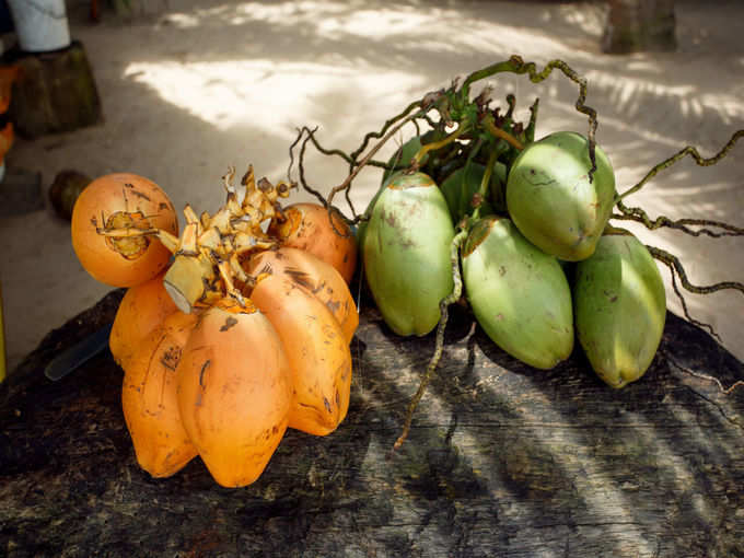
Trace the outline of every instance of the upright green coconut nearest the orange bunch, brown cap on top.
{"label": "upright green coconut nearest the orange bunch, brown cap on top", "polygon": [[398,174],[377,198],[361,245],[364,274],[385,323],[426,335],[452,292],[454,226],[444,196],[422,173]]}

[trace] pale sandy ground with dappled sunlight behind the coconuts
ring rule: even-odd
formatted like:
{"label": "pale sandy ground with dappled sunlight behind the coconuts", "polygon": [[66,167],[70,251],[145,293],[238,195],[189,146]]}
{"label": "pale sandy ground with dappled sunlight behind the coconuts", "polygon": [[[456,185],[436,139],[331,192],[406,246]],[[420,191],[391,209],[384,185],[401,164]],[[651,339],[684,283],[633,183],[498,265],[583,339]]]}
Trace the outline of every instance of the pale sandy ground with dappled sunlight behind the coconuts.
{"label": "pale sandy ground with dappled sunlight behind the coconuts", "polygon": [[[94,68],[105,124],[16,142],[9,164],[42,171],[45,187],[63,168],[91,176],[128,171],[159,183],[178,208],[188,201],[211,211],[223,199],[220,176],[229,165],[253,163],[258,176],[284,177],[297,127],[317,126],[325,146],[351,151],[409,102],[512,54],[539,63],[561,58],[588,78],[586,103],[598,111],[597,139],[619,190],[684,146],[710,155],[744,128],[744,3],[736,0],[678,0],[677,53],[619,57],[600,51],[596,4],[166,0],[128,20],[106,12],[98,24],[88,22],[86,2],[68,7],[72,36]],[[577,89],[557,73],[540,85],[503,74],[490,84],[497,98],[513,92],[522,109],[540,97],[538,135],[585,130],[573,109]],[[310,156],[306,165],[323,191],[345,177],[338,159]],[[352,188],[357,209],[379,181],[379,171],[361,173]],[[744,142],[716,166],[675,165],[628,202],[652,216],[744,226]],[[640,233],[679,255],[694,282],[744,280],[744,239]],[[68,223],[48,204],[4,218],[0,251],[12,370],[48,330],[109,288],[80,267]],[[669,301],[679,312],[673,294]],[[689,297],[688,305],[744,359],[742,293]]]}

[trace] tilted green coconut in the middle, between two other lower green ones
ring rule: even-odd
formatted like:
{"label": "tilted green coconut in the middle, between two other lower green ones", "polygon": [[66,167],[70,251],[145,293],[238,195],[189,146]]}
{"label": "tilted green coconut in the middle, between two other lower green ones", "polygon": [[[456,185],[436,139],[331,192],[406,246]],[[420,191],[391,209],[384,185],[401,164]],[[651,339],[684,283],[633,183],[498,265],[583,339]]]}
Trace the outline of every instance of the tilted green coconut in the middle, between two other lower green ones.
{"label": "tilted green coconut in the middle, between two other lower green ones", "polygon": [[463,280],[478,324],[504,351],[545,370],[571,354],[573,313],[563,270],[509,219],[490,216],[473,226]]}

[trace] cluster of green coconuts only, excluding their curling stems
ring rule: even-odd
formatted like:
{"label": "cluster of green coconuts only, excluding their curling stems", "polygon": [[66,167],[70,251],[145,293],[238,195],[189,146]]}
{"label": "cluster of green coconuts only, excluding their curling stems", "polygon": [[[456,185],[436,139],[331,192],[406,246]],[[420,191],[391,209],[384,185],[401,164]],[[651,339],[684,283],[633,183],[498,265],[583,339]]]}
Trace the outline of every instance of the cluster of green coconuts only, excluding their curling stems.
{"label": "cluster of green coconuts only, excluding their curling stems", "polygon": [[501,158],[458,156],[450,168],[446,153],[426,151],[415,170],[422,139],[396,154],[409,168],[383,178],[360,225],[365,278],[385,323],[402,336],[430,333],[460,265],[478,324],[511,356],[551,369],[578,337],[607,384],[639,379],[661,341],[666,298],[646,246],[608,226],[616,191],[604,151],[595,148],[591,172],[588,139],[560,131],[523,147],[498,139]]}

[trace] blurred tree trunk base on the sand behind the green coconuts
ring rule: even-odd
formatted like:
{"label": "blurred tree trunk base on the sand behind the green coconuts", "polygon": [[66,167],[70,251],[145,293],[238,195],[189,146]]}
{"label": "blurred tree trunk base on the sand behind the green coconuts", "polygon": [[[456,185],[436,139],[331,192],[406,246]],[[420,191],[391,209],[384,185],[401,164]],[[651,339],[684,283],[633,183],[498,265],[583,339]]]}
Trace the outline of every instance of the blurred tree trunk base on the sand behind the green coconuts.
{"label": "blurred tree trunk base on the sand behind the green coconuts", "polygon": [[676,47],[674,0],[609,0],[602,37],[605,53],[671,51]]}

